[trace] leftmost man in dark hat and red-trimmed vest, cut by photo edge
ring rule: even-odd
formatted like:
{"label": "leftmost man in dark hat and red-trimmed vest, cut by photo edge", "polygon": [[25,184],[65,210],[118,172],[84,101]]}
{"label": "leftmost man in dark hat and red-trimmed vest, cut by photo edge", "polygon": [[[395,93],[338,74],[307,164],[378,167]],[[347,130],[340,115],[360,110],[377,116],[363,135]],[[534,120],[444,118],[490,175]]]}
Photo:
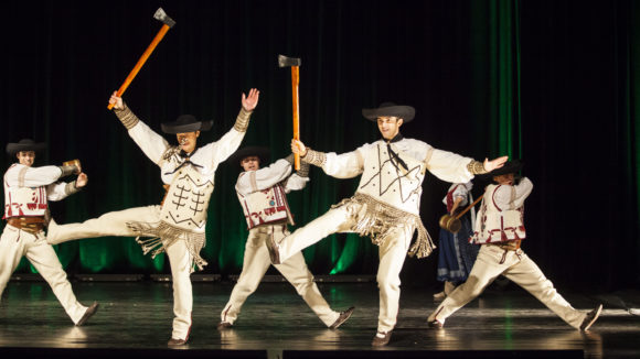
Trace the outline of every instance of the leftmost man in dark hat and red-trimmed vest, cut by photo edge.
{"label": "leftmost man in dark hat and red-trimmed vest, cut by photo edge", "polygon": [[[7,144],[7,153],[18,157],[4,173],[4,217],[7,226],[0,238],[0,296],[22,257],[26,257],[49,283],[57,301],[76,326],[81,326],[98,309],[94,302],[89,307],[75,297],[66,273],[51,244],[44,240],[44,227],[49,216],[47,200],[61,200],[77,193],[87,184],[87,175],[79,166],[33,167],[35,151],[45,143],[24,139]],[[77,180],[65,183],[61,177],[77,174]]]}

